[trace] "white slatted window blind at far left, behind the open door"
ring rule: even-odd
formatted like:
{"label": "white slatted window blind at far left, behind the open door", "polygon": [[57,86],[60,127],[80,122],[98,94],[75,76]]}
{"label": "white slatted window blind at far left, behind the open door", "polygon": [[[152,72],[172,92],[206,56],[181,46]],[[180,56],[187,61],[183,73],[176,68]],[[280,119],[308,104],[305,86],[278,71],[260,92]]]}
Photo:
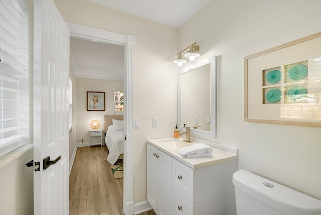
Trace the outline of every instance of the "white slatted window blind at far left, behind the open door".
{"label": "white slatted window blind at far left, behind the open door", "polygon": [[28,14],[0,0],[0,156],[29,143]]}

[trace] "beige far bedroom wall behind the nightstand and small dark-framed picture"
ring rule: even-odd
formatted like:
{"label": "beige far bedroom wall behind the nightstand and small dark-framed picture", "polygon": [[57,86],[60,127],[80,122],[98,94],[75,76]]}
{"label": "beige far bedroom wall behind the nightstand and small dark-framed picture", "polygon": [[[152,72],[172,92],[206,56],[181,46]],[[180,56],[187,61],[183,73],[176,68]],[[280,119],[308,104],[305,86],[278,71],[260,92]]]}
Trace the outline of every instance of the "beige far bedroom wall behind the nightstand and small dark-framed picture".
{"label": "beige far bedroom wall behind the nightstand and small dark-framed picture", "polygon": [[[117,80],[104,80],[93,78],[81,78],[77,77],[76,87],[77,99],[76,99],[76,142],[84,143],[89,142],[90,122],[97,119],[100,121],[100,128],[104,129],[104,115],[113,115],[115,104],[113,101],[113,95],[115,90],[123,90],[124,82]],[[105,111],[87,111],[87,91],[100,91],[105,92]]]}

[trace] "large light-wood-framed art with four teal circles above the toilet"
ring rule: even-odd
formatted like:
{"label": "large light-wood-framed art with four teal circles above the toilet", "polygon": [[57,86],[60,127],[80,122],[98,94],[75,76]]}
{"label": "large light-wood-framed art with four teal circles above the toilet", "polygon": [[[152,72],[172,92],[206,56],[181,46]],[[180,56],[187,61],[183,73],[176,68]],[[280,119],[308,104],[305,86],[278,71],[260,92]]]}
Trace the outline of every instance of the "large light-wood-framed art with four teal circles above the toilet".
{"label": "large light-wood-framed art with four teal circles above the toilet", "polygon": [[244,119],[321,126],[321,32],[247,56]]}

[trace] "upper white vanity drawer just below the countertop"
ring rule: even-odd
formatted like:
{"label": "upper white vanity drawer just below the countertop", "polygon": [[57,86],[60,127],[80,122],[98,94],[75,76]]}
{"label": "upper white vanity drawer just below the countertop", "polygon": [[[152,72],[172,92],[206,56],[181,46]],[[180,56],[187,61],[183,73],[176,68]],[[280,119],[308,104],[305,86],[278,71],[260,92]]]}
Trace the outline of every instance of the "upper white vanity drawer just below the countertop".
{"label": "upper white vanity drawer just below the countertop", "polygon": [[194,171],[172,158],[172,184],[194,202]]}

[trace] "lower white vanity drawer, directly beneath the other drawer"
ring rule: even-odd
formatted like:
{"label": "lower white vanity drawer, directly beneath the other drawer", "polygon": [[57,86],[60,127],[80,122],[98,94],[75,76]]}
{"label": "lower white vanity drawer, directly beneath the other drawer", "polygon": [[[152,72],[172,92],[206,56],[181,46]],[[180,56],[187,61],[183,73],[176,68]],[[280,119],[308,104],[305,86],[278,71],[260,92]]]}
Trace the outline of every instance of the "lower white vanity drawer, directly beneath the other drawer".
{"label": "lower white vanity drawer, directly beneath the other drawer", "polygon": [[193,215],[194,203],[172,185],[171,211],[174,215]]}

